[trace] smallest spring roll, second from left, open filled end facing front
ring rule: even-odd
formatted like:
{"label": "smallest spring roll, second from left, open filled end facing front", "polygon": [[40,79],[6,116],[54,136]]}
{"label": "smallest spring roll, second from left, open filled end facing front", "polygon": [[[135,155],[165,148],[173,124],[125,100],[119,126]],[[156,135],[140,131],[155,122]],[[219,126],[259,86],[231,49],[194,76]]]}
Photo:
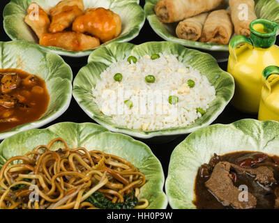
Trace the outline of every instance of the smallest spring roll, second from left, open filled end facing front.
{"label": "smallest spring roll, second from left, open filled end facing front", "polygon": [[197,41],[202,35],[202,27],[209,13],[202,13],[179,22],[176,35],[185,40]]}

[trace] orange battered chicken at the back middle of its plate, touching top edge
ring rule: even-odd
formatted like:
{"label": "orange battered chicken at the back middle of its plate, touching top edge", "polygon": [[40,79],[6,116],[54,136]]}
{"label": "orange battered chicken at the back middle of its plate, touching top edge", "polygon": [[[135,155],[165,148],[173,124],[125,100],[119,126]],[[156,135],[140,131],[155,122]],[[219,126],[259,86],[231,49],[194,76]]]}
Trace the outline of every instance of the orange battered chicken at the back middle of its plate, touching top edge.
{"label": "orange battered chicken at the back middle of its plate, touching top edge", "polygon": [[63,31],[73,24],[74,20],[84,13],[82,0],[60,1],[50,10],[52,23],[49,31],[57,33]]}

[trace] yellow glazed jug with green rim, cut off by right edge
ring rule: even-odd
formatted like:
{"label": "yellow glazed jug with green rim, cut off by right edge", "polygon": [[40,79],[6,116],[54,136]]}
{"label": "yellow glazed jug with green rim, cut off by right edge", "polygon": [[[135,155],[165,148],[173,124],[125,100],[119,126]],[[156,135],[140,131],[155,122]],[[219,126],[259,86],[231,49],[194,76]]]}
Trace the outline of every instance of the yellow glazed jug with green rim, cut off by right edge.
{"label": "yellow glazed jug with green rim, cut off by right edge", "polygon": [[279,67],[269,66],[262,72],[262,97],[259,102],[261,121],[279,121]]}

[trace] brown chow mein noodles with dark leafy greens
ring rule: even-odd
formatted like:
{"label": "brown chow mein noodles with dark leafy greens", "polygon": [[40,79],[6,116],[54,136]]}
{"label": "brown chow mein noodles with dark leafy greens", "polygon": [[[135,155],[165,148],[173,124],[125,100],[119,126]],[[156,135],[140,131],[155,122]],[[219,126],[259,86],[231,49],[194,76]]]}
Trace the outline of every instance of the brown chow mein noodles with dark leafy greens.
{"label": "brown chow mein noodles with dark leafy greens", "polygon": [[[61,141],[65,148],[52,151]],[[11,157],[0,171],[0,208],[146,208],[138,199],[144,174],[116,155],[71,149],[56,138],[25,155]]]}

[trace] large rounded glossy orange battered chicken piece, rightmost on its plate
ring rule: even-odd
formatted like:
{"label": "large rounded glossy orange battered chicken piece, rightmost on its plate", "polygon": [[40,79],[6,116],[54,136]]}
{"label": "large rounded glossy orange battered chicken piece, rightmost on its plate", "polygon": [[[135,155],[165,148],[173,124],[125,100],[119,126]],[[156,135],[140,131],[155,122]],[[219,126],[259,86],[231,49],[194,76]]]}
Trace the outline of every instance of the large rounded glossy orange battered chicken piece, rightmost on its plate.
{"label": "large rounded glossy orange battered chicken piece, rightmost on its plate", "polygon": [[89,8],[84,15],[77,17],[73,23],[73,31],[90,33],[105,43],[119,36],[121,17],[105,8]]}

